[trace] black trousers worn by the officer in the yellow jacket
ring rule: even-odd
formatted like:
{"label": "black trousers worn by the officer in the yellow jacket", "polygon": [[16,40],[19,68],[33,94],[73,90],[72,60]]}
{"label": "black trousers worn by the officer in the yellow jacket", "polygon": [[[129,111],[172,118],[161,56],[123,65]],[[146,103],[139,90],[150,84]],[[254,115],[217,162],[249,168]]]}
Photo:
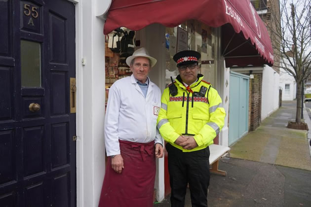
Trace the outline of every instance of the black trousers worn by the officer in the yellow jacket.
{"label": "black trousers worn by the officer in the yellow jacket", "polygon": [[207,207],[209,185],[209,147],[194,152],[183,152],[166,144],[171,185],[171,206],[184,207],[187,184],[193,207]]}

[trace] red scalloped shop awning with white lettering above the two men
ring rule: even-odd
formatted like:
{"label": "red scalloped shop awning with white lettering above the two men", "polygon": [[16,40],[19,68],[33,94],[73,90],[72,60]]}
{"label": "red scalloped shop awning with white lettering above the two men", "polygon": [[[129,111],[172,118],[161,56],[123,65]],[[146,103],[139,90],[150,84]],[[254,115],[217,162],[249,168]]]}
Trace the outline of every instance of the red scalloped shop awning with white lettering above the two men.
{"label": "red scalloped shop awning with white lettering above the two men", "polygon": [[267,28],[250,0],[112,0],[104,34],[118,27],[137,31],[153,23],[176,27],[190,19],[222,27],[226,67],[272,66]]}

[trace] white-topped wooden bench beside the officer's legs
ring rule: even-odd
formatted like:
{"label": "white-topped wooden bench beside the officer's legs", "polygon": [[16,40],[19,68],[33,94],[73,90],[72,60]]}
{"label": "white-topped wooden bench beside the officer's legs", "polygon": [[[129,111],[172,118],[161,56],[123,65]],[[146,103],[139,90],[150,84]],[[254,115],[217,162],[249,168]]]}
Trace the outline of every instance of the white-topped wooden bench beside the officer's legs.
{"label": "white-topped wooden bench beside the officer's legs", "polygon": [[225,171],[218,170],[218,161],[220,158],[225,157],[228,154],[230,147],[211,144],[209,145],[209,151],[209,165],[212,166],[210,172],[226,176],[227,173]]}

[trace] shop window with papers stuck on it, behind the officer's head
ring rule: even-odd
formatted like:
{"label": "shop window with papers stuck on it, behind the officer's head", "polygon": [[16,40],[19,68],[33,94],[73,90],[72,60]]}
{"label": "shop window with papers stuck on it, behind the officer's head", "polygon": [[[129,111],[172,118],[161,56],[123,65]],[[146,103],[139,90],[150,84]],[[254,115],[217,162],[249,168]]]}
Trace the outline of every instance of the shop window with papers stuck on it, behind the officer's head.
{"label": "shop window with papers stuck on it, behind the officer's head", "polygon": [[[213,86],[217,80],[217,29],[197,20],[187,20],[175,28],[166,28],[166,86],[179,74],[173,56],[182,50],[195,50],[201,54],[199,73]],[[184,39],[184,36],[187,38]]]}

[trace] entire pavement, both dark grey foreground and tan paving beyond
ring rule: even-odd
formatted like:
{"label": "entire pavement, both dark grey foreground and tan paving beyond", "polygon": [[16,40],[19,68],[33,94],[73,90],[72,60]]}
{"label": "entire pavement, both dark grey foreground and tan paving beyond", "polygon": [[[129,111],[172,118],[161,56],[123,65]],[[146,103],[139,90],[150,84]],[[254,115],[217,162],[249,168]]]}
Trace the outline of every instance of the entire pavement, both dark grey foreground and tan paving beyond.
{"label": "entire pavement, both dark grey foreground and tan paving beyond", "polygon": [[[311,207],[311,130],[286,128],[295,121],[296,101],[282,102],[259,128],[233,146],[211,174],[210,207]],[[311,120],[304,109],[305,122]],[[169,207],[169,196],[154,207]],[[191,207],[187,189],[185,207]]]}

